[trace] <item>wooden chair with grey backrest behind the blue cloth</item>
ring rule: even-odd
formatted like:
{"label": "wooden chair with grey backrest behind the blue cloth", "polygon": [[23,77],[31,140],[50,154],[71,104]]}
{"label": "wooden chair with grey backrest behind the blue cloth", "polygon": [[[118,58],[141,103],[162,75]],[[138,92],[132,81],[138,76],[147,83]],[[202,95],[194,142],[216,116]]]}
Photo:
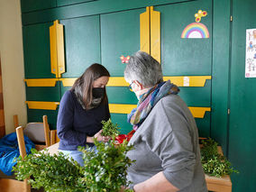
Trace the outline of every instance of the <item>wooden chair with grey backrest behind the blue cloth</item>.
{"label": "wooden chair with grey backrest behind the blue cloth", "polygon": [[[18,115],[14,115],[14,129],[19,127]],[[43,150],[50,146],[50,128],[47,115],[42,116],[42,123],[27,123],[23,128],[26,136],[35,143],[35,149],[38,151]],[[44,142],[45,144],[41,144]],[[54,141],[52,141],[53,143]]]}

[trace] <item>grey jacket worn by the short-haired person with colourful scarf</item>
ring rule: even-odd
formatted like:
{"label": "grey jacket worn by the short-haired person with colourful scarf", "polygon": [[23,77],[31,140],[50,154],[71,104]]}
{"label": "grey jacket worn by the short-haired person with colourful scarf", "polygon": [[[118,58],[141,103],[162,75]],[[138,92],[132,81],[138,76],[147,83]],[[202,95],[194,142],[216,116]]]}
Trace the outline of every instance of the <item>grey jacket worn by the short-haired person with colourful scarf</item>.
{"label": "grey jacket worn by the short-haired person with colourful scarf", "polygon": [[135,163],[128,169],[133,185],[163,171],[169,182],[186,192],[205,192],[195,119],[178,95],[165,96],[134,133],[127,153]]}

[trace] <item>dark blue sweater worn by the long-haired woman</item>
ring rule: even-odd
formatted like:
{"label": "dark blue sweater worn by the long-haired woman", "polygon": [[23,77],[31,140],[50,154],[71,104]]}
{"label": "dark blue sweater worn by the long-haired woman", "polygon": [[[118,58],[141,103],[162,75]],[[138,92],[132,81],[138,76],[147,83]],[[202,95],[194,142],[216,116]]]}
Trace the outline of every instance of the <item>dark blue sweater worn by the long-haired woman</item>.
{"label": "dark blue sweater worn by the long-haired woman", "polygon": [[74,151],[78,146],[93,146],[87,143],[87,136],[93,136],[102,129],[101,121],[110,117],[108,104],[85,110],[78,103],[76,95],[66,91],[59,104],[57,133],[59,150]]}

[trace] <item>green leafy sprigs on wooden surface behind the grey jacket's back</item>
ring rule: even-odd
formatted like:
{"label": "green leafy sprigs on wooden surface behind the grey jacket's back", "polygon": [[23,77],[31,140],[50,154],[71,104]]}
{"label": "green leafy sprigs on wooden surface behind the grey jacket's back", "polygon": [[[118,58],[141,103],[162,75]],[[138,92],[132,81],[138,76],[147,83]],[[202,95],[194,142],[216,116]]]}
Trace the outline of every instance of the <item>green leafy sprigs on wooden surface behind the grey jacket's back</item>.
{"label": "green leafy sprigs on wooden surface behind the grey jacket's back", "polygon": [[201,161],[204,171],[207,175],[218,178],[231,173],[238,173],[237,170],[231,167],[231,163],[217,151],[218,143],[213,139],[208,138],[202,141]]}

